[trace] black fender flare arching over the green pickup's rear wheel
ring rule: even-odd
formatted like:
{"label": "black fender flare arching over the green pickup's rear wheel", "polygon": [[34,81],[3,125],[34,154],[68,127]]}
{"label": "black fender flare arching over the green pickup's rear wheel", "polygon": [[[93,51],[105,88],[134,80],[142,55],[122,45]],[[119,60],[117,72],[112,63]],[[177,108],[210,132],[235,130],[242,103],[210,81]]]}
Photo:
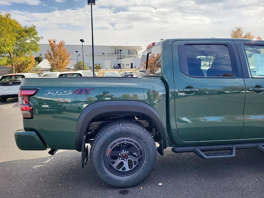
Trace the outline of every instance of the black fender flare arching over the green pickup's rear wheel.
{"label": "black fender flare arching over the green pickup's rear wheel", "polygon": [[128,101],[128,100],[106,100],[94,102],[86,108],[84,108],[79,116],[76,134],[75,134],[75,144],[76,150],[82,151],[82,138],[85,136],[86,130],[90,122],[102,115],[112,112],[130,112],[130,113],[140,113],[144,114],[152,119],[159,131],[160,139],[163,142],[163,148],[166,148],[166,134],[162,121],[156,112],[156,110],[147,103],[140,101]]}

